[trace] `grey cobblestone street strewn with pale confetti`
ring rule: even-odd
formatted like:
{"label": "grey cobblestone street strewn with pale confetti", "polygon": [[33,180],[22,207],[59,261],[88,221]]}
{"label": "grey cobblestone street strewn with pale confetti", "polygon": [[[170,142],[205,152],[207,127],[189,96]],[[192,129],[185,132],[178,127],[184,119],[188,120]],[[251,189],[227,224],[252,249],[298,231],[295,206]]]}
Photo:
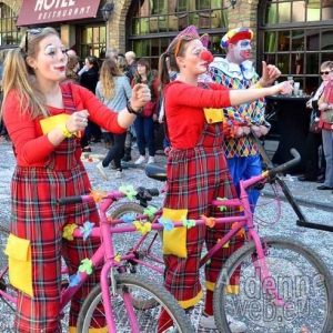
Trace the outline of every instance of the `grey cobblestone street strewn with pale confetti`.
{"label": "grey cobblestone street strewn with pale confetti", "polygon": [[[92,189],[100,189],[103,191],[119,189],[120,185],[133,185],[134,189],[143,185],[145,188],[158,188],[161,189],[163,184],[159,181],[149,179],[144,172],[144,164],[137,167],[133,162],[127,163],[124,165],[123,175],[121,179],[114,176],[113,170],[107,170],[109,175],[109,181],[102,181],[100,174],[95,169],[95,164],[103,158],[107,150],[102,143],[97,143],[91,145],[92,152],[84,153],[82,157],[84,165],[88,170]],[[10,180],[12,171],[14,168],[14,158],[11,148],[11,143],[3,141],[0,143],[0,199],[1,199],[1,210],[0,210],[0,224],[8,226],[10,216]],[[132,151],[133,161],[138,158],[138,151]],[[157,154],[157,164],[165,165],[165,157],[163,154]],[[311,222],[326,223],[333,225],[333,195],[331,191],[317,191],[315,190],[316,183],[297,182],[294,176],[285,176],[285,182],[290,188],[293,195],[295,195],[299,204],[301,205],[303,214]],[[163,196],[153,199],[152,203],[154,205],[160,205],[162,203]],[[276,201],[272,200],[272,192],[268,188],[262,191],[260,202],[256,209],[256,220],[274,222],[278,219],[279,210],[276,209]],[[289,235],[294,240],[302,241],[310,249],[315,251],[321,255],[324,262],[330,268],[333,273],[333,234],[324,231],[316,231],[310,229],[303,229],[296,226],[296,214],[292,210],[291,205],[282,201],[281,219],[278,223],[269,226],[259,226],[260,234],[263,235]],[[153,272],[149,272],[151,279],[155,279]],[[202,302],[192,312],[192,321],[196,327],[196,332],[215,332],[209,330],[202,330],[199,327],[199,320],[202,312]],[[0,332],[9,333],[9,331],[1,331],[3,321],[6,319],[0,319]],[[2,323],[1,323],[2,322]],[[63,331],[65,332],[65,330]],[[271,333],[273,331],[261,331],[261,333]],[[274,331],[278,332],[278,331]],[[280,331],[279,331],[280,332]],[[250,332],[252,333],[252,332]],[[281,333],[284,333],[281,331]],[[317,332],[312,332],[317,333]]]}

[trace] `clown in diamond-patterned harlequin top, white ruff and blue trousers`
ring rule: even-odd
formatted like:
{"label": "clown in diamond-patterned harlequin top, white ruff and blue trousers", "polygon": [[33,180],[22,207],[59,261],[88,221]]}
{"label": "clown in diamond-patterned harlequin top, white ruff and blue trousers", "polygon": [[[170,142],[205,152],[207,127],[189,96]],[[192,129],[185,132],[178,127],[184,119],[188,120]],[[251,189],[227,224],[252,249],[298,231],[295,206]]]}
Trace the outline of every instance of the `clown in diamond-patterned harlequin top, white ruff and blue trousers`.
{"label": "clown in diamond-patterned harlequin top, white ruff and blue trousers", "polygon": [[[210,64],[210,74],[215,83],[232,89],[260,88],[261,79],[249,60],[251,57],[252,30],[248,28],[236,28],[230,30],[221,40],[221,47],[226,50],[226,57],[215,57]],[[265,100],[261,98],[252,103],[224,108],[224,113],[230,120],[242,117],[242,122],[249,127],[260,127],[262,134],[270,129],[270,123],[265,121]],[[225,137],[223,150],[233,182],[239,190],[241,180],[250,179],[262,172],[260,154],[251,135],[241,138]],[[259,190],[248,192],[252,211],[259,199]]]}

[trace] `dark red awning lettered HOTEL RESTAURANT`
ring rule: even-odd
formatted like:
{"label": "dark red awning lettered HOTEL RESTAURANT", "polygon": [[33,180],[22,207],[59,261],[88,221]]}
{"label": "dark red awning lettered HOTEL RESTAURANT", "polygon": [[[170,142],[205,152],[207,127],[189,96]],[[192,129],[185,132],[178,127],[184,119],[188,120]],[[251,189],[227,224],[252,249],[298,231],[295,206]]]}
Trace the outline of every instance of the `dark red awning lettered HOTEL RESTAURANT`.
{"label": "dark red awning lettered HOTEL RESTAURANT", "polygon": [[24,0],[18,27],[94,18],[98,0]]}

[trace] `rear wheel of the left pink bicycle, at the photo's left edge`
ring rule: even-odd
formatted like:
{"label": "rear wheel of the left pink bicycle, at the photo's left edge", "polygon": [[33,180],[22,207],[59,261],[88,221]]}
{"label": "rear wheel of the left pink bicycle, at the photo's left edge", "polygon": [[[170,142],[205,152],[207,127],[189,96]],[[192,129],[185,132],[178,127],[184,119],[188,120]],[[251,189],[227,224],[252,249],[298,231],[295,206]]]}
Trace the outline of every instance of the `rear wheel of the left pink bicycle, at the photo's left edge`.
{"label": "rear wheel of the left pink bicycle, at the photo's left edge", "polygon": [[[8,256],[4,254],[8,236],[9,230],[0,225],[0,289],[16,297],[17,292],[9,282]],[[2,319],[0,323],[0,332],[13,332],[16,304],[0,296],[0,313]]]}

